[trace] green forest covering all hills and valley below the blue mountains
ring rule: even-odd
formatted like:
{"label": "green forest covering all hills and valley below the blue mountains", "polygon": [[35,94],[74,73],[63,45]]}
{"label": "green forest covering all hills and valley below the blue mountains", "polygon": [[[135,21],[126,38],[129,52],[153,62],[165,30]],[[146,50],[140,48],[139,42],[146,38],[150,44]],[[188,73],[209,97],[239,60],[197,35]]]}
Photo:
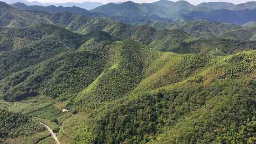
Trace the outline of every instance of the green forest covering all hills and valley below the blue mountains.
{"label": "green forest covering all hills and valley below the blue mountains", "polygon": [[254,27],[0,10],[1,142],[256,143]]}

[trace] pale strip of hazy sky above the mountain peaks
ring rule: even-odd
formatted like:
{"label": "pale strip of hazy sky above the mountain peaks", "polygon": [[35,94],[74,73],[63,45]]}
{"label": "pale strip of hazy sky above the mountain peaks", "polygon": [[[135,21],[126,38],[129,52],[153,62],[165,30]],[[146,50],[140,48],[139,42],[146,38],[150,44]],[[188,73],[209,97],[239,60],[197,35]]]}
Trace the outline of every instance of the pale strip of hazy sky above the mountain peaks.
{"label": "pale strip of hazy sky above the mountain peaks", "polygon": [[[35,1],[35,0],[27,0],[27,1]],[[128,0],[37,0],[40,2],[55,2],[55,3],[63,3],[63,2],[84,2],[84,1],[98,1],[101,3],[109,3],[109,2],[120,2],[120,1],[128,1]],[[138,2],[138,3],[142,3],[142,2],[154,2],[154,1],[158,1],[158,0],[131,0],[134,2]],[[178,0],[171,0],[171,1],[178,1]],[[225,1],[225,2],[232,2],[234,4],[238,4],[238,3],[244,3],[247,1],[253,1],[253,0],[187,0],[190,3],[197,5],[201,2],[209,2],[209,1]]]}

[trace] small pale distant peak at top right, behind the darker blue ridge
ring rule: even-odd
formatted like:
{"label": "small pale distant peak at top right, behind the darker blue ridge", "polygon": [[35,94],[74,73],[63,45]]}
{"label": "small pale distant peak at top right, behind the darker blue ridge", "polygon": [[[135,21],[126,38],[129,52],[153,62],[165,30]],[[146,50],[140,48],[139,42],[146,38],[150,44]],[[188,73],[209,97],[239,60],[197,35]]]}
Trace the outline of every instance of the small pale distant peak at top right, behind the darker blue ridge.
{"label": "small pale distant peak at top right, behind the darker blue ridge", "polygon": [[229,2],[202,2],[196,7],[204,7],[209,9],[232,9],[236,5]]}

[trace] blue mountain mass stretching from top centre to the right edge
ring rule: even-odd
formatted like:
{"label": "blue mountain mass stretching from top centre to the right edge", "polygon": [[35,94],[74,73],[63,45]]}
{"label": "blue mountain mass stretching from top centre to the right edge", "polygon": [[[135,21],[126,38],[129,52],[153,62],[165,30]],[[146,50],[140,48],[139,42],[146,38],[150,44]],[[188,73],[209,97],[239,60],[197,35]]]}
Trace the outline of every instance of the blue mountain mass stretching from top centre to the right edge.
{"label": "blue mountain mass stretching from top centre to the right edge", "polygon": [[[255,20],[255,9],[243,10],[229,10],[222,9],[219,6],[222,3],[203,3],[201,5],[208,5],[205,7],[195,7],[187,1],[170,2],[167,0],[160,0],[154,3],[134,3],[132,1],[124,2],[122,4],[107,4],[92,12],[104,13],[108,16],[126,17],[126,18],[146,18],[156,19],[169,18],[174,22],[188,22],[196,19],[205,19],[208,21],[216,21],[221,23],[234,23],[243,25],[247,22]],[[231,5],[225,3],[225,5]],[[215,7],[216,10],[210,9]],[[223,5],[222,5],[223,6]],[[218,8],[217,8],[218,7]]]}

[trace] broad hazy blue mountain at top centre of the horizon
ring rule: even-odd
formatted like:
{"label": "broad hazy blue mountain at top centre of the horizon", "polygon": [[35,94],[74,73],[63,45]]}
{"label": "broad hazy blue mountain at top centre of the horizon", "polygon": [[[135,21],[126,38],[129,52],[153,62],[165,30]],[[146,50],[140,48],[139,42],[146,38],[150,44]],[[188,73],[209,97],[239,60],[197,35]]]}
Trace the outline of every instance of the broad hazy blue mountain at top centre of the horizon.
{"label": "broad hazy blue mountain at top centre of the horizon", "polygon": [[187,1],[177,1],[175,3],[168,2],[170,5],[163,6],[161,3],[165,1],[158,1],[155,3],[135,3],[132,1],[123,2],[121,4],[106,4],[101,7],[92,9],[93,12],[104,13],[108,16],[121,16],[130,18],[140,17],[159,17],[171,18],[177,15],[177,12],[183,9],[190,9],[194,6]]}

